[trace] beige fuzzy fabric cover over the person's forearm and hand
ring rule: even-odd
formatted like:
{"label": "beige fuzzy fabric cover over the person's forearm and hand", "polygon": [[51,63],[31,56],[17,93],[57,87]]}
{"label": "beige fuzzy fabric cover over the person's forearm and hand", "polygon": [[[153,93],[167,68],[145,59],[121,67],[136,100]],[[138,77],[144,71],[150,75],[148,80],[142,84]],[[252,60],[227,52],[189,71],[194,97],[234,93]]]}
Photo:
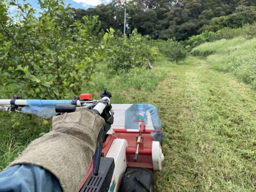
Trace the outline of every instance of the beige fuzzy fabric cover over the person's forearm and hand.
{"label": "beige fuzzy fabric cover over the person's forearm and hand", "polygon": [[77,192],[97,148],[104,119],[89,109],[54,116],[52,130],[32,141],[9,166],[33,164],[54,174],[64,192]]}

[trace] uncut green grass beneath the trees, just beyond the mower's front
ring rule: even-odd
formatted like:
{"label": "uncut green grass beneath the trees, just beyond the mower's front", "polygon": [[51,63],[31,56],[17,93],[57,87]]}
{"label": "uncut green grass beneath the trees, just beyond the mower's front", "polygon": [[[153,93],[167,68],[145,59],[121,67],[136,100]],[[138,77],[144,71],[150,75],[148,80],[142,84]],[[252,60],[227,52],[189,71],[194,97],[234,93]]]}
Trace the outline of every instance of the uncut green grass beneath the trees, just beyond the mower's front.
{"label": "uncut green grass beneath the trees, just beyond the mower's front", "polygon": [[143,67],[125,73],[124,71],[116,72],[109,69],[106,64],[101,64],[93,75],[94,85],[90,85],[85,91],[92,93],[94,99],[99,99],[99,93],[107,87],[113,95],[112,103],[141,102],[165,78],[172,66],[175,64],[162,58],[153,65],[154,70],[146,70]]}

